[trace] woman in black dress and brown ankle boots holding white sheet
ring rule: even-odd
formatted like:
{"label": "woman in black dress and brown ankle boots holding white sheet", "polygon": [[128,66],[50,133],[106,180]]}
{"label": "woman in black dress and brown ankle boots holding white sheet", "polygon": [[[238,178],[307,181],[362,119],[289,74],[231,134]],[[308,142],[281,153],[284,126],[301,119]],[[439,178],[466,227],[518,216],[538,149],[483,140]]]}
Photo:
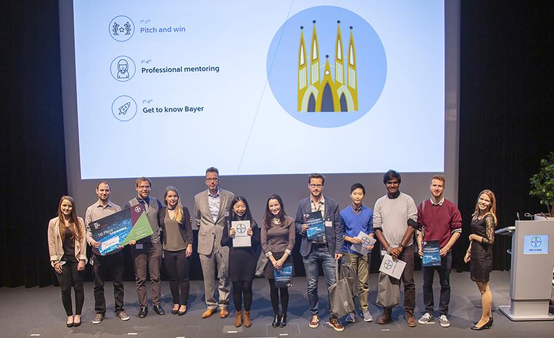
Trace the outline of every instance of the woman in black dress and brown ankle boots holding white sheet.
{"label": "woman in black dress and brown ankle boots holding white sheet", "polygon": [[[249,221],[250,247],[233,247],[233,238],[236,231],[232,227],[233,221]],[[237,196],[231,201],[229,208],[229,224],[223,229],[221,238],[222,247],[229,247],[229,278],[233,283],[233,303],[235,303],[235,326],[252,326],[250,307],[252,305],[252,281],[256,273],[256,249],[260,246],[260,227],[253,220],[247,199]],[[242,299],[244,299],[244,321],[242,313]]]}

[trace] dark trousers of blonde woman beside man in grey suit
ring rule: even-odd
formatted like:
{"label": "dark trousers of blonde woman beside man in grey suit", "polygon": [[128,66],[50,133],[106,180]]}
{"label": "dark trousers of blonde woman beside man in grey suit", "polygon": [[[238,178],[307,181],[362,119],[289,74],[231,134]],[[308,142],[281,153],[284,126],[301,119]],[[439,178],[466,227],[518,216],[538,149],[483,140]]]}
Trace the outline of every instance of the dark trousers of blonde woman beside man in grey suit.
{"label": "dark trousers of blonde woman beside man in grey suit", "polygon": [[[186,258],[186,249],[163,251],[163,263],[169,277],[169,288],[174,304],[186,305],[190,291],[190,262]],[[180,295],[180,296],[179,296]]]}

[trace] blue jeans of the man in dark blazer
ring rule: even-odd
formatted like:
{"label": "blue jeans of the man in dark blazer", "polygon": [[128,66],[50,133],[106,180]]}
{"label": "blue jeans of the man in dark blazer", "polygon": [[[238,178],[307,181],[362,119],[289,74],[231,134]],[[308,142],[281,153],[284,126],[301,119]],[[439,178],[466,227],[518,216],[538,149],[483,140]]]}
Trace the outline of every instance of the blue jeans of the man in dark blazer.
{"label": "blue jeans of the man in dark blazer", "polygon": [[[317,281],[319,277],[318,263],[321,263],[323,267],[323,276],[325,276],[325,283],[327,287],[334,284],[334,267],[337,261],[334,260],[334,253],[330,253],[327,247],[317,247],[312,244],[312,250],[307,256],[302,258],[304,262],[304,269],[306,271],[306,283],[307,283],[307,300],[310,302],[310,312],[312,316],[319,314],[319,297],[317,295]],[[327,294],[329,299],[329,293]],[[329,303],[329,312],[331,304]],[[331,318],[336,318],[334,314],[331,314]]]}

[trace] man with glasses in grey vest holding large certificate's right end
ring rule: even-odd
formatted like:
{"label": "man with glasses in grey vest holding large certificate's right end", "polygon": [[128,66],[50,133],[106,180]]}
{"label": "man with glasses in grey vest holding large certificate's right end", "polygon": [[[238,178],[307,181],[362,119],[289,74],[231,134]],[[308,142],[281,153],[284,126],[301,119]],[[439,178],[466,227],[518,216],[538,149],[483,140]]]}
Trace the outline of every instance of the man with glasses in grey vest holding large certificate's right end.
{"label": "man with glasses in grey vest holding large certificate's right end", "polygon": [[139,294],[139,318],[148,314],[148,303],[146,300],[146,270],[150,274],[150,288],[152,289],[152,308],[157,314],[163,315],[166,312],[161,307],[160,267],[161,267],[161,242],[160,226],[158,223],[158,210],[161,202],[150,196],[152,181],[147,177],[140,177],[135,181],[137,196],[125,204],[125,208],[142,206],[152,226],[152,235],[143,238],[131,245],[131,256],[133,258],[136,292]]}

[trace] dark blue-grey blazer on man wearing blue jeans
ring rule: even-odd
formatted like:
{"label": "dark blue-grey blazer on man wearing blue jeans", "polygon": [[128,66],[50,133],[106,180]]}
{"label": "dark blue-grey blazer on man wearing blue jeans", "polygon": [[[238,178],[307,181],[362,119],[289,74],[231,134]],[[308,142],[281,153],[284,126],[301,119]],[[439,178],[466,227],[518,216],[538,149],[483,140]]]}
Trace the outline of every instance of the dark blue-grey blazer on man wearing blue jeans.
{"label": "dark blue-grey blazer on man wearing blue jeans", "polygon": [[[312,206],[310,205],[310,197],[306,197],[298,203],[298,211],[296,211],[296,219],[294,220],[296,231],[302,238],[300,254],[303,257],[307,256],[312,250],[312,241],[307,239],[305,233],[302,233],[302,216],[305,213],[311,212]],[[331,254],[342,254],[344,235],[341,227],[341,210],[339,209],[339,204],[327,196],[325,196],[325,217],[323,220],[332,222],[332,226],[325,226],[325,238],[327,238],[329,252]]]}

